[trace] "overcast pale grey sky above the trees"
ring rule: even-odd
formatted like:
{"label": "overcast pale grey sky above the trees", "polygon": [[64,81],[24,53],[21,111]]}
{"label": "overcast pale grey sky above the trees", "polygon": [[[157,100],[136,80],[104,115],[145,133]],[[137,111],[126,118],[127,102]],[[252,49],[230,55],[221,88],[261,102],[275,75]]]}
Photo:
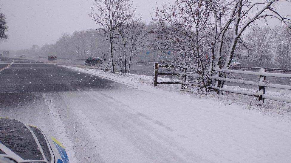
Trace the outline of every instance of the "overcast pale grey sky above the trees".
{"label": "overcast pale grey sky above the trees", "polygon": [[[174,0],[133,0],[137,14],[151,21],[153,8]],[[53,44],[64,32],[96,29],[88,16],[93,0],[0,0],[1,11],[7,16],[9,39],[0,42],[0,49],[19,50],[33,44]],[[291,14],[291,3],[280,6],[283,15]],[[271,24],[278,24],[272,21]]]}

